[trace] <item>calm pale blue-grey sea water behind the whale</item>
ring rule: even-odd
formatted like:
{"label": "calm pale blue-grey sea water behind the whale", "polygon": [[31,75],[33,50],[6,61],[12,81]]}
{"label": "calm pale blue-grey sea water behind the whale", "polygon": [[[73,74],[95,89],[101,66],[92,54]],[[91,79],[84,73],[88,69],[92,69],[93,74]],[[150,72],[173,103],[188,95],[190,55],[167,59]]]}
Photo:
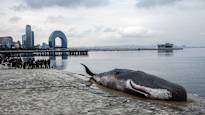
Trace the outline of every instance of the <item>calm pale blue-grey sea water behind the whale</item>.
{"label": "calm pale blue-grey sea water behind the whale", "polygon": [[173,52],[119,51],[89,52],[85,57],[56,59],[64,71],[86,74],[80,63],[93,72],[114,68],[141,70],[166,80],[181,84],[189,93],[205,97],[205,49],[193,48]]}

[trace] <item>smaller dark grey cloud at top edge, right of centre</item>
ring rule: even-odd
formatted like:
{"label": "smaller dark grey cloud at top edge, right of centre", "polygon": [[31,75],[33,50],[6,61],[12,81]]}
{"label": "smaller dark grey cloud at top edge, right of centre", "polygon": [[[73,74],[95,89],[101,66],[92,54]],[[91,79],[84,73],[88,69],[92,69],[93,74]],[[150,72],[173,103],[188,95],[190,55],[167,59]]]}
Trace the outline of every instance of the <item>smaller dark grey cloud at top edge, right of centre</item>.
{"label": "smaller dark grey cloud at top edge, right of centre", "polygon": [[171,5],[181,0],[137,0],[137,7],[152,8],[156,6]]}

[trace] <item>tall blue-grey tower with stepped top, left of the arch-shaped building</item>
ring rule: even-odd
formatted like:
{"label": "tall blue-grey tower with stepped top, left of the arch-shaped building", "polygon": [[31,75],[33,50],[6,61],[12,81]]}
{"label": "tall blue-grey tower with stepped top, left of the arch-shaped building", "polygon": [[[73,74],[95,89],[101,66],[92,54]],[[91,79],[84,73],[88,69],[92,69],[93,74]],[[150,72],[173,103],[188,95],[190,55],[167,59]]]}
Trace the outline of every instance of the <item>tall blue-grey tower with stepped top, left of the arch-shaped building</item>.
{"label": "tall blue-grey tower with stepped top, left of the arch-shaped building", "polygon": [[34,48],[34,32],[30,25],[26,25],[26,33],[22,35],[22,47],[25,49]]}

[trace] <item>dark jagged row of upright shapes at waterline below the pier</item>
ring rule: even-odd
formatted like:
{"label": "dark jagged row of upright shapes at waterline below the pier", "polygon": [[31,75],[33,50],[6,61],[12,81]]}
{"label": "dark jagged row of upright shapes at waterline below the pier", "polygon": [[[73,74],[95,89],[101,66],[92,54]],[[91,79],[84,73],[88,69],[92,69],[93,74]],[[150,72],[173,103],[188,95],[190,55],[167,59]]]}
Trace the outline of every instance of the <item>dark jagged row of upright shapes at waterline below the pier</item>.
{"label": "dark jagged row of upright shapes at waterline below the pier", "polygon": [[20,57],[1,57],[0,64],[11,68],[36,69],[36,68],[51,68],[50,59],[35,60],[34,58],[22,59]]}

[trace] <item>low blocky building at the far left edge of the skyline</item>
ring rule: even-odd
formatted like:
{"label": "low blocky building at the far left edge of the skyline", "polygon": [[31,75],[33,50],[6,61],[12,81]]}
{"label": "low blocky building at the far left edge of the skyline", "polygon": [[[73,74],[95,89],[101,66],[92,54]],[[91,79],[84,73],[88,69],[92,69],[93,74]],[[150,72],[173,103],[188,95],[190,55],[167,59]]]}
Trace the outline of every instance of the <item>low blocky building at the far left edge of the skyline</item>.
{"label": "low blocky building at the far left edge of the skyline", "polygon": [[0,48],[10,49],[13,47],[13,38],[11,36],[0,37]]}

